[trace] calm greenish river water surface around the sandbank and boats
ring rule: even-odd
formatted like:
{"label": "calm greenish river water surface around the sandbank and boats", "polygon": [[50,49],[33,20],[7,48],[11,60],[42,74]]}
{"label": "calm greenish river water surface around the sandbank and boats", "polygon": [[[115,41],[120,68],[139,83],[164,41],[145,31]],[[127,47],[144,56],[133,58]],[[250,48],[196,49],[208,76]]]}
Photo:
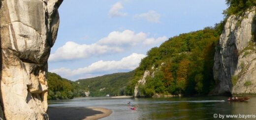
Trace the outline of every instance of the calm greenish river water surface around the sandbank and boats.
{"label": "calm greenish river water surface around the sandbank and boats", "polygon": [[[100,120],[216,120],[237,115],[239,120],[256,120],[256,97],[246,102],[224,101],[225,96],[170,98],[85,97],[51,100],[50,107],[102,107],[113,113]],[[128,102],[136,110],[128,108]],[[220,116],[221,115],[221,116]],[[224,117],[222,116],[224,115]],[[245,119],[245,117],[247,118]],[[222,117],[222,118],[220,118]],[[230,117],[230,116],[229,116]],[[250,117],[250,118],[248,118]],[[229,119],[236,120],[236,119]]]}

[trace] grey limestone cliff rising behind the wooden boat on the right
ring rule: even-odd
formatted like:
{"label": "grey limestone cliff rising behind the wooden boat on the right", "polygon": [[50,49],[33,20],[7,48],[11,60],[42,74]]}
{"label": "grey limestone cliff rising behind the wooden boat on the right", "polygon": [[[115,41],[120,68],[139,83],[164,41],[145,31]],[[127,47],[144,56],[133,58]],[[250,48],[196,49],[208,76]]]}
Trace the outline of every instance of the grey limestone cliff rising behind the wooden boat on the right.
{"label": "grey limestone cliff rising behind the wooden boat on the right", "polygon": [[214,57],[214,94],[256,94],[256,7],[230,16]]}

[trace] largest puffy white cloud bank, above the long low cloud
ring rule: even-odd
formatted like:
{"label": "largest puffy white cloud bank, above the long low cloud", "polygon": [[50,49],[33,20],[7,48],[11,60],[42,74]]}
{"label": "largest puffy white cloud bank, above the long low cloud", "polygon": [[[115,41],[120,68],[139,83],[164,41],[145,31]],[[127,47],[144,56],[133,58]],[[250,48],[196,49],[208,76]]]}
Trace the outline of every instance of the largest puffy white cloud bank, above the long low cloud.
{"label": "largest puffy white cloud bank, above the long low cloud", "polygon": [[167,38],[148,38],[144,32],[135,33],[131,30],[113,31],[107,37],[100,39],[98,42],[86,45],[74,42],[66,42],[64,46],[58,48],[50,54],[49,61],[74,60],[88,58],[109,53],[125,51],[127,48],[136,46],[155,47]]}

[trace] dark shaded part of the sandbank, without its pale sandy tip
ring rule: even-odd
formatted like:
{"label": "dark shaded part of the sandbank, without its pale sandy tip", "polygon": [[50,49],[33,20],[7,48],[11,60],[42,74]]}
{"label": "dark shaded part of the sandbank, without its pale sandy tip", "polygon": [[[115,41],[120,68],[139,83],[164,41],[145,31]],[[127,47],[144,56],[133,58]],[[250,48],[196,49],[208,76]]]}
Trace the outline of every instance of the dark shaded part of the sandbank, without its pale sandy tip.
{"label": "dark shaded part of the sandbank, without its pale sandy tip", "polygon": [[83,120],[89,116],[102,114],[86,107],[49,107],[48,115],[51,120]]}

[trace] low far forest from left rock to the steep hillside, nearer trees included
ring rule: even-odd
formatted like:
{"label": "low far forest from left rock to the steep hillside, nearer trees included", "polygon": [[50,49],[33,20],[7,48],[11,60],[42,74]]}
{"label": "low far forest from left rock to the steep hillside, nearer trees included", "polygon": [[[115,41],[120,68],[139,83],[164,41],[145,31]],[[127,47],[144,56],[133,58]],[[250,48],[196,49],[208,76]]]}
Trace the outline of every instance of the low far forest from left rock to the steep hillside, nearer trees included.
{"label": "low far forest from left rock to the steep hillside, nearer trees included", "polygon": [[[56,73],[48,72],[48,99],[67,99],[78,96],[122,96],[126,95],[125,89],[133,79],[134,71],[107,74],[88,79],[70,81]],[[101,90],[100,90],[101,89]]]}

